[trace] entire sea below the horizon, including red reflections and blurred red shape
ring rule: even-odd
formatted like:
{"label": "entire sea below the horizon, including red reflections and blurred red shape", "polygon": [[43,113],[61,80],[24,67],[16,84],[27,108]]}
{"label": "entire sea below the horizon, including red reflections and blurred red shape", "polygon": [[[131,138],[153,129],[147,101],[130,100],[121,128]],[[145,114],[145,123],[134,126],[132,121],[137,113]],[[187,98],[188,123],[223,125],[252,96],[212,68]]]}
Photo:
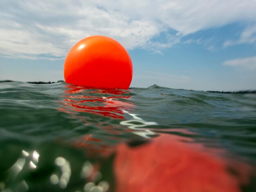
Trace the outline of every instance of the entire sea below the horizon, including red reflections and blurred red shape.
{"label": "entire sea below the horizon, including red reflections and blurred red shape", "polygon": [[256,91],[0,82],[2,192],[256,191]]}

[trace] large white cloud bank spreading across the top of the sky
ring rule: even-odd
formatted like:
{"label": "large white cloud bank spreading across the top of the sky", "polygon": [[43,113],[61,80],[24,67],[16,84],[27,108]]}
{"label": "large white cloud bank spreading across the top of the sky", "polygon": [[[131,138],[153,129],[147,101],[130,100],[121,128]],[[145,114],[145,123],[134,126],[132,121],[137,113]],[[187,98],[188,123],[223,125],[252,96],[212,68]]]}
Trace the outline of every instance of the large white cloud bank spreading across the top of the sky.
{"label": "large white cloud bank spreading across the top of the sky", "polygon": [[[254,0],[2,0],[1,4],[0,53],[32,59],[64,58],[77,41],[91,35],[110,36],[126,49],[160,52],[188,34],[256,18]],[[251,37],[248,30],[241,34],[244,42]],[[164,42],[159,41],[161,36]]]}

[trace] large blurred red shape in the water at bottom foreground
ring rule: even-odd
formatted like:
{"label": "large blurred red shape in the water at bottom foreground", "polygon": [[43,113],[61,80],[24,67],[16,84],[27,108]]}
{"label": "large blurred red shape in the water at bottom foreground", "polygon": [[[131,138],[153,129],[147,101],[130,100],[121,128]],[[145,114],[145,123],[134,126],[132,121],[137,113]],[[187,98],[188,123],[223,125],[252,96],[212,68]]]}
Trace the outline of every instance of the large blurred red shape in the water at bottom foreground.
{"label": "large blurred red shape in the water at bottom foreground", "polygon": [[148,144],[117,146],[116,192],[238,192],[248,182],[246,165],[231,174],[227,162],[190,141],[161,134]]}

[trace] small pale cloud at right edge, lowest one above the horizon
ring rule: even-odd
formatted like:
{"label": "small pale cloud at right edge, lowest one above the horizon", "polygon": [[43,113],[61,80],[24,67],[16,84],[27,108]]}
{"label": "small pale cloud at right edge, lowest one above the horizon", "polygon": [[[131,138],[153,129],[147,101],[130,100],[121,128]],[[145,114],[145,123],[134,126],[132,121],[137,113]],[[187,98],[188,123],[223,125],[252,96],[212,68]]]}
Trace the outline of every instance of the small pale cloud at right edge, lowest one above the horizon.
{"label": "small pale cloud at right edge, lowest one above the horizon", "polygon": [[234,60],[227,60],[223,63],[224,65],[233,67],[243,67],[249,70],[256,70],[256,56],[248,58],[239,58]]}

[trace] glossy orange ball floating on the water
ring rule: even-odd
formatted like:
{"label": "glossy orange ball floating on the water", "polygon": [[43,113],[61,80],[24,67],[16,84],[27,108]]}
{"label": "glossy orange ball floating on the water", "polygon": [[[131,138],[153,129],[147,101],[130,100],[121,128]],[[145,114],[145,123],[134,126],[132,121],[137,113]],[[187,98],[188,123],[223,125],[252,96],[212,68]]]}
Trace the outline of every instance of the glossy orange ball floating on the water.
{"label": "glossy orange ball floating on the water", "polygon": [[128,89],[132,61],[126,49],[105,36],[90,36],[70,49],[64,63],[66,83]]}

